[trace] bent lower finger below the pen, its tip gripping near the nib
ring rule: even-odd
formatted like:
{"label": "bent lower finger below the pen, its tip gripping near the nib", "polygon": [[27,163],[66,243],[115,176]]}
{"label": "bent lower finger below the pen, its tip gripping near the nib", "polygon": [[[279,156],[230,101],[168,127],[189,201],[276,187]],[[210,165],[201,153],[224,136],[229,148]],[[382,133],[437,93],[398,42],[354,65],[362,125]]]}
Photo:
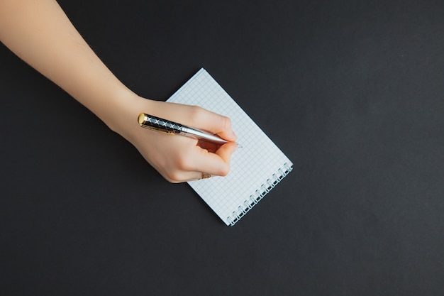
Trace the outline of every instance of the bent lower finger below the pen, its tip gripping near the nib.
{"label": "bent lower finger below the pen, its tip gripping near the nib", "polygon": [[226,176],[230,171],[230,160],[233,152],[238,148],[235,143],[227,143],[219,148],[216,153],[196,146],[196,158],[194,158],[195,171],[206,172],[210,175]]}

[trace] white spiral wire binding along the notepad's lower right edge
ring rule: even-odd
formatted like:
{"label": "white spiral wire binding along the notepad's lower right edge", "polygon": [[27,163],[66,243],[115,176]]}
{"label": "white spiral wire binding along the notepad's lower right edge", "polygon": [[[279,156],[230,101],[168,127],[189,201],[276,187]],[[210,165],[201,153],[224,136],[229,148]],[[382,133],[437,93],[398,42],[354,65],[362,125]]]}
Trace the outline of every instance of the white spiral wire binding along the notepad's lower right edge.
{"label": "white spiral wire binding along the notepad's lower right edge", "polygon": [[289,166],[287,163],[284,163],[284,170],[282,170],[282,168],[279,168],[277,170],[277,174],[274,173],[270,179],[267,179],[265,184],[260,185],[260,189],[257,189],[254,194],[250,195],[249,199],[245,199],[243,205],[240,204],[238,209],[233,211],[234,218],[231,218],[231,216],[227,217],[227,221],[230,224],[230,226],[233,226],[234,224],[236,224],[236,222],[240,220],[240,218],[245,216],[245,214],[247,214],[247,212],[250,211],[252,207],[254,207],[258,202],[260,202],[260,200],[264,198],[265,195],[268,192],[270,192],[274,187],[276,187],[276,185],[278,185],[279,182],[281,182],[282,179],[284,179],[284,177],[287,177],[289,172],[291,172],[292,170],[293,170],[292,166]]}

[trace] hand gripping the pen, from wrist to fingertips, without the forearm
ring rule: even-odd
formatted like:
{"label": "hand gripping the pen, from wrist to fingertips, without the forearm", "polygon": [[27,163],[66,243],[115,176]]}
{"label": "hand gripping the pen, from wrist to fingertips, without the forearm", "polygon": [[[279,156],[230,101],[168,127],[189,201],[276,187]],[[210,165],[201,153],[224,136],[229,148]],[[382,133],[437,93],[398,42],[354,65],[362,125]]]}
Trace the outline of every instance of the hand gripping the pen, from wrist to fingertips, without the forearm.
{"label": "hand gripping the pen, from wrist to fingertips, without the forearm", "polygon": [[[126,102],[120,115],[113,117],[109,126],[130,141],[145,160],[170,182],[198,180],[202,173],[225,176],[230,170],[230,159],[237,148],[235,143],[223,146],[197,141],[186,136],[171,136],[140,128],[140,112],[152,114],[186,126],[218,134],[227,141],[236,140],[231,121],[199,106],[151,101],[134,97]],[[122,110],[122,109],[121,109]]]}

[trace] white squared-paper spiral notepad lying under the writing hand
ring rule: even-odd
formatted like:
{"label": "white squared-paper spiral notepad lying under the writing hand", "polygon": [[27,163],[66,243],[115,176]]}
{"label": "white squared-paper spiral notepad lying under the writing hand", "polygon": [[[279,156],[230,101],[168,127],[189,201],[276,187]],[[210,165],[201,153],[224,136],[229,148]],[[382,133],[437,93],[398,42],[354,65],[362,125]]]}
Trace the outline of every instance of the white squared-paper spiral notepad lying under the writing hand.
{"label": "white squared-paper spiral notepad lying under the writing hand", "polygon": [[203,68],[167,102],[201,106],[231,119],[242,148],[233,153],[229,174],[188,182],[226,225],[238,222],[292,171],[292,161]]}

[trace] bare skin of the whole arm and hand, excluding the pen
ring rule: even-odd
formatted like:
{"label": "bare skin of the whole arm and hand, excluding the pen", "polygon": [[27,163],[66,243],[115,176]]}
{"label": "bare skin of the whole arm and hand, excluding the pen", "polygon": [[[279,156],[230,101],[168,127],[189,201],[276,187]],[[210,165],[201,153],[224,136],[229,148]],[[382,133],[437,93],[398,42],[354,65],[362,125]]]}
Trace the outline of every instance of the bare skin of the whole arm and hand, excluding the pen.
{"label": "bare skin of the whole arm and hand, excluding the pen", "polygon": [[139,97],[101,62],[57,1],[0,0],[0,41],[132,143],[166,180],[228,174],[235,143],[207,150],[192,138],[140,128],[137,117],[149,113],[234,142],[230,119],[199,106]]}

